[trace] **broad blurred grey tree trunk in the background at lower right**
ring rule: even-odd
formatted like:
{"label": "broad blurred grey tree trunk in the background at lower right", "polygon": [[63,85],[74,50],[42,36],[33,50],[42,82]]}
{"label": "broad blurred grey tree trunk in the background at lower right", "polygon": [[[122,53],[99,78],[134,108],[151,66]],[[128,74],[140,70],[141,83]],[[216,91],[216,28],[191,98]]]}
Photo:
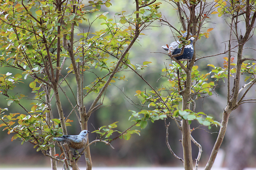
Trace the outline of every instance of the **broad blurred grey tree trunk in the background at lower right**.
{"label": "broad blurred grey tree trunk in the background at lower right", "polygon": [[231,128],[230,131],[227,131],[230,145],[226,152],[227,166],[230,170],[243,170],[248,166],[253,147],[254,124],[252,118],[254,110],[255,105],[247,103],[239,106],[232,113],[235,118],[231,119]]}

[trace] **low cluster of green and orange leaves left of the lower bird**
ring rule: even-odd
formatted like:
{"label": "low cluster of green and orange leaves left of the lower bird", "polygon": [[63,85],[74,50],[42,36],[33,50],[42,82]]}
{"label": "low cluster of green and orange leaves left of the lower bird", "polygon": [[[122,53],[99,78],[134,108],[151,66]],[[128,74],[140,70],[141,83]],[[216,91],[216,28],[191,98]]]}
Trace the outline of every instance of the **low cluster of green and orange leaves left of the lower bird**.
{"label": "low cluster of green and orange leaves left of the lower bird", "polygon": [[[40,107],[40,109],[44,108]],[[20,140],[22,143],[30,142],[34,145],[34,148],[37,147],[36,151],[53,148],[54,145],[49,141],[53,137],[62,134],[59,119],[52,119],[50,121],[51,125],[49,125],[46,121],[46,115],[42,113],[31,114],[33,112],[31,111],[29,115],[21,113],[5,114],[4,111],[8,111],[7,108],[0,109],[0,111],[0,119],[4,122],[0,124],[0,127],[5,127],[3,131],[7,130],[8,134],[15,133],[11,140]],[[70,126],[70,122],[68,119],[66,125]]]}

